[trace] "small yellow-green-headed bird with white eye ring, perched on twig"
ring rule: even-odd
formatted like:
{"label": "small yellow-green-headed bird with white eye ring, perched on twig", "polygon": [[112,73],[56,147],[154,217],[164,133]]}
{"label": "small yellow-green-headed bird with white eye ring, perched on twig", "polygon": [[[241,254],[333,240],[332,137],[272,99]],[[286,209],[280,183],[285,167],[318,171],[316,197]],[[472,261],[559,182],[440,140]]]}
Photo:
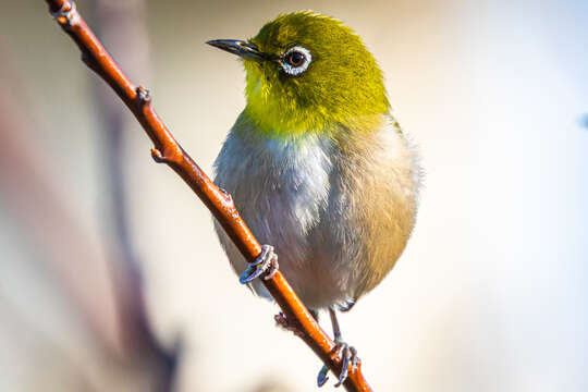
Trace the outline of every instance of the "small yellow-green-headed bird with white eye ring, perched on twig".
{"label": "small yellow-green-headed bird with white eye ring, perched on twig", "polygon": [[[279,15],[248,40],[207,44],[238,56],[247,105],[215,162],[218,186],[264,245],[248,264],[217,223],[241,282],[279,268],[304,304],[328,309],[343,358],[356,366],[336,310],[348,310],[401,256],[417,212],[420,168],[391,113],[382,72],[360,37],[313,11]],[[327,367],[318,384],[327,381]]]}

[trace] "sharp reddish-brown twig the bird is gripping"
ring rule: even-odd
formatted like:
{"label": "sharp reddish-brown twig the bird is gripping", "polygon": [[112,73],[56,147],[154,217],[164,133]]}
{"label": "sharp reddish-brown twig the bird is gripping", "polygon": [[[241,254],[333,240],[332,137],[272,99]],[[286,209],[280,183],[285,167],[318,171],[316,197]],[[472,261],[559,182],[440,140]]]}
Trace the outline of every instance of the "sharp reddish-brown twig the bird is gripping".
{"label": "sharp reddish-brown twig the bird is gripping", "polygon": [[[136,87],[120,70],[114,60],[98,41],[79,13],[69,0],[46,0],[57,22],[77,44],[82,60],[105,79],[135,114],[155,148],[151,156],[157,162],[170,166],[198,195],[222,224],[225,232],[247,260],[255,260],[261,246],[238,215],[231,195],[220,189],[194,160],[182,149],[156,113],[149,91]],[[56,14],[59,12],[59,14]],[[334,353],[334,342],[322,331],[308,309],[279,271],[264,284],[280,305],[290,322],[302,332],[302,339],[335,373],[341,372],[341,358]],[[344,383],[347,391],[371,391],[362,375],[362,365],[350,371]]]}

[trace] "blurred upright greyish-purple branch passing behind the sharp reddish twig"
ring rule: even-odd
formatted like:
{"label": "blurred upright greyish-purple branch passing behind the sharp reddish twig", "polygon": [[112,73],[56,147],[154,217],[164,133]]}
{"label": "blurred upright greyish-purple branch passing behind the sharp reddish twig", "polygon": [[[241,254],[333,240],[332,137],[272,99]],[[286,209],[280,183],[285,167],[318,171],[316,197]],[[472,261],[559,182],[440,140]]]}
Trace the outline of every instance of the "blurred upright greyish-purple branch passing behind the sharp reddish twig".
{"label": "blurred upright greyish-purple branch passing behind the sharp reddish twig", "polygon": [[[149,72],[147,29],[144,23],[145,3],[143,0],[94,2],[99,34],[108,47],[121,59],[121,63],[133,70],[133,74],[146,77]],[[97,82],[97,81],[95,81]],[[112,278],[117,283],[118,313],[123,333],[123,343],[128,352],[140,348],[154,356],[160,368],[160,377],[155,390],[170,391],[180,355],[180,341],[170,350],[158,342],[148,320],[144,280],[140,261],[134,248],[128,229],[128,213],[125,195],[125,131],[128,111],[112,99],[112,93],[103,83],[95,83],[95,96],[101,112],[107,183],[110,196],[110,225],[108,240],[120,250],[111,255]],[[111,230],[112,229],[112,230]]]}

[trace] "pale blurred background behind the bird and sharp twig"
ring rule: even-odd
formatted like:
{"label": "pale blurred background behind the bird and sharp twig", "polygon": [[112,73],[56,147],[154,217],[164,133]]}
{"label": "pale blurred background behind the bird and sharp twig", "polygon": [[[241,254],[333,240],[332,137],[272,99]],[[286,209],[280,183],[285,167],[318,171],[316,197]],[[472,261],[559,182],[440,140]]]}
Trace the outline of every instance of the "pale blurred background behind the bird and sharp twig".
{"label": "pale blurred background behind the bird and sharp twig", "polygon": [[[299,9],[355,28],[427,173],[406,252],[341,320],[367,380],[588,390],[588,2],[77,7],[208,173],[244,73],[206,40]],[[0,58],[0,391],[316,390],[316,356],[44,1],[2,4]]]}

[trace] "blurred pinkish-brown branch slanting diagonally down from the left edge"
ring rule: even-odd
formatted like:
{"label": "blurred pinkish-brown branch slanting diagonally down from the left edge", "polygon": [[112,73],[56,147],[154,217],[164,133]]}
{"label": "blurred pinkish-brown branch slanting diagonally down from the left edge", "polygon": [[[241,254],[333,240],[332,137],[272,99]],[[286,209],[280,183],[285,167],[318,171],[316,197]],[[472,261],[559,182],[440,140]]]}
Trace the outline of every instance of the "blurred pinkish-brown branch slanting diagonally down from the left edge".
{"label": "blurred pinkish-brown branch slanting diagonally down from the left edge", "polygon": [[[0,48],[2,49],[2,48]],[[0,50],[0,54],[3,50]],[[9,56],[1,56],[3,59]],[[0,191],[14,217],[32,233],[38,252],[99,343],[99,357],[114,360],[128,376],[140,375],[149,391],[170,391],[175,356],[155,340],[147,322],[140,280],[119,244],[102,250],[72,211],[69,193],[47,151],[29,137],[33,121],[20,105],[15,72],[0,68]],[[93,241],[94,240],[94,241]],[[123,268],[120,268],[123,266]],[[76,369],[77,372],[79,369]],[[72,369],[72,373],[73,373]],[[143,389],[145,390],[145,389]]]}

